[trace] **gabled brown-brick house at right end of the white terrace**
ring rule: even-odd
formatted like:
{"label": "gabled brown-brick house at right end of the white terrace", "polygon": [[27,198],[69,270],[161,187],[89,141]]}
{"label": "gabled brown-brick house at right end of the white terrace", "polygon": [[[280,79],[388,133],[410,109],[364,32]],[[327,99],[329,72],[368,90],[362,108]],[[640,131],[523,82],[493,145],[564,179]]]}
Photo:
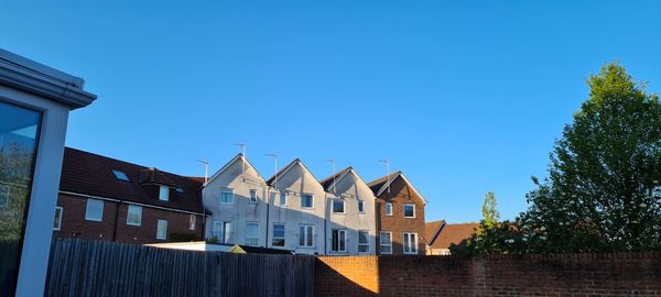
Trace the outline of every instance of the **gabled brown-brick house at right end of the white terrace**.
{"label": "gabled brown-brick house at right end of the white terrace", "polygon": [[425,254],[424,197],[402,172],[372,180],[368,186],[377,197],[377,253]]}

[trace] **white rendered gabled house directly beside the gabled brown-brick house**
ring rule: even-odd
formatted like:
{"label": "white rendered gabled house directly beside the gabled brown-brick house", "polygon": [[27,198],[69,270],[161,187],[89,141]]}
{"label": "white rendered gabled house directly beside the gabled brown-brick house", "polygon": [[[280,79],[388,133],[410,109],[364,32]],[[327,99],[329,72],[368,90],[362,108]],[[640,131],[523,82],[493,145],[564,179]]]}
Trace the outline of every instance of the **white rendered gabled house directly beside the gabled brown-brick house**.
{"label": "white rendered gabled house directly beside the gabled brown-brick house", "polygon": [[325,254],[376,254],[376,198],[365,180],[347,167],[321,184],[327,193]]}

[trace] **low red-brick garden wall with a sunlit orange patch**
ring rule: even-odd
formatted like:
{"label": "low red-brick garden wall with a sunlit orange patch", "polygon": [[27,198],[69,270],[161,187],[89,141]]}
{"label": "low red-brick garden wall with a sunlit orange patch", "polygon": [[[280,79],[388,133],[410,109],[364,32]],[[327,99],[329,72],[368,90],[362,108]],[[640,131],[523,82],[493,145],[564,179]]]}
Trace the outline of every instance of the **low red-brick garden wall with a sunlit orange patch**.
{"label": "low red-brick garden wall with a sunlit orange patch", "polygon": [[315,296],[661,296],[661,253],[318,257]]}

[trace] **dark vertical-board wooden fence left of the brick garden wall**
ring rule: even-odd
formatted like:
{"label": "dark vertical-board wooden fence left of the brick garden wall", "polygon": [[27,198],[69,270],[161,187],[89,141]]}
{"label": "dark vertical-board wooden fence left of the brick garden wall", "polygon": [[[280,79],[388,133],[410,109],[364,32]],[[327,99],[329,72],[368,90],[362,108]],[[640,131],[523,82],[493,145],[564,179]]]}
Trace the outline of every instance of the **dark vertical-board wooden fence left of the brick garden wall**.
{"label": "dark vertical-board wooden fence left of the brick garden wall", "polygon": [[313,296],[314,256],[56,239],[46,296]]}

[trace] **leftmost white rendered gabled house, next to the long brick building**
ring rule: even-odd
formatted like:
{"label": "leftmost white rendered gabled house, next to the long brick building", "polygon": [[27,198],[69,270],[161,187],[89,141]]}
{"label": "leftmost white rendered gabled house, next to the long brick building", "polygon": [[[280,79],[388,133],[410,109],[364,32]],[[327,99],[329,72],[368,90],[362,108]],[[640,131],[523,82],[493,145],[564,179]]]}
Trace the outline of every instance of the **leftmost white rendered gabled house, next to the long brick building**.
{"label": "leftmost white rendered gabled house, next to the long brick building", "polygon": [[218,243],[267,246],[267,183],[246,156],[235,156],[202,190],[210,212],[205,237]]}

